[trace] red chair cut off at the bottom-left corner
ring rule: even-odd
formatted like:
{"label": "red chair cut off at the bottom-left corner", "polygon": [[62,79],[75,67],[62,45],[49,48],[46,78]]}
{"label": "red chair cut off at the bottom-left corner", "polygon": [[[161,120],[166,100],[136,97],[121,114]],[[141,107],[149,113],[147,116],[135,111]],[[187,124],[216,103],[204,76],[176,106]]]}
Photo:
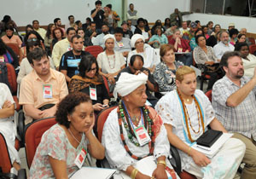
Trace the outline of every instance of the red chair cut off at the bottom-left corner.
{"label": "red chair cut off at the bottom-left corner", "polygon": [[18,176],[11,172],[13,165],[9,158],[8,146],[3,134],[0,132],[0,178],[26,178],[26,170],[20,169]]}

